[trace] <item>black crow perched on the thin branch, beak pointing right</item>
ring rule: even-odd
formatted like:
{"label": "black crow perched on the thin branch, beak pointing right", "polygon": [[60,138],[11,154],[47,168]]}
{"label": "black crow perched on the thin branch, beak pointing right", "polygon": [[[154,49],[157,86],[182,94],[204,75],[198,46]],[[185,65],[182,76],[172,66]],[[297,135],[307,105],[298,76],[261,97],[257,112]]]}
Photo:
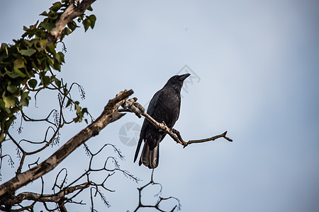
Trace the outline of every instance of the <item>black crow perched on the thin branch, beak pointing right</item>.
{"label": "black crow perched on the thin branch, beak pointing right", "polygon": [[[149,114],[157,122],[164,122],[169,128],[172,128],[179,118],[179,109],[181,107],[181,86],[184,80],[191,74],[172,76],[165,86],[157,91],[150,100],[147,108]],[[140,156],[139,165],[144,164],[150,169],[155,169],[159,162],[159,142],[161,142],[166,133],[156,128],[150,121],[144,119],[142,129],[140,130],[140,139],[135,151],[134,162],[138,158],[142,140],[144,147]]]}

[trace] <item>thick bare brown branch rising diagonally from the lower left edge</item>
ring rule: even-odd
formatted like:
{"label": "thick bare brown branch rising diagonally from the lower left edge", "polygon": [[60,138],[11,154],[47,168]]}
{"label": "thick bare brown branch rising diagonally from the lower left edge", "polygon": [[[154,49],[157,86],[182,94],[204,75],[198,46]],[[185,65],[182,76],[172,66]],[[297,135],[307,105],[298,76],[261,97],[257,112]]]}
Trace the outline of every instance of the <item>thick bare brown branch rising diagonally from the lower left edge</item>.
{"label": "thick bare brown branch rising diagonally from the lower left edge", "polygon": [[62,160],[67,158],[67,155],[72,153],[85,141],[99,134],[99,132],[111,122],[123,117],[124,114],[118,112],[118,107],[122,105],[123,102],[125,102],[125,99],[132,94],[133,90],[124,90],[116,95],[116,98],[108,101],[108,104],[104,107],[101,116],[97,118],[95,122],[87,126],[85,129],[82,129],[82,131],[80,131],[72,139],[67,141],[65,145],[53,153],[50,158],[47,158],[47,160],[43,161],[43,163],[36,165],[32,169],[16,175],[16,177],[13,177],[8,182],[1,184],[0,201],[4,194],[12,194],[17,189],[45,175],[47,172],[50,172],[50,170],[53,170],[59,163],[62,162]]}

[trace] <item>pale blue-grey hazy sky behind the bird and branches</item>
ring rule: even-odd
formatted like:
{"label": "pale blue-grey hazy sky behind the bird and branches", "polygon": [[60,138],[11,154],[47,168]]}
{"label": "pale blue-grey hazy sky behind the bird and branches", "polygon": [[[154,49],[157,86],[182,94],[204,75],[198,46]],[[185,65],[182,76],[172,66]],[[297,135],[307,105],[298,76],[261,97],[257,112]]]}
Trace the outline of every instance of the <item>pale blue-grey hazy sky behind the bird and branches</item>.
{"label": "pale blue-grey hazy sky behind the bird and branches", "polygon": [[[0,41],[18,39],[23,25],[41,19],[38,14],[53,2],[1,1]],[[319,211],[319,1],[98,0],[92,7],[96,26],[65,38],[60,76],[84,87],[81,104],[94,117],[119,91],[133,89],[145,105],[171,76],[188,70],[194,78],[182,91],[175,128],[185,140],[226,130],[234,140],[183,149],[167,136],[155,170],[162,196],[177,197],[181,211]],[[181,71],[185,65],[189,68]],[[48,102],[41,96],[30,113],[37,115]],[[150,179],[150,170],[133,164],[135,146],[120,140],[128,123],[138,127],[142,119],[127,114],[87,142],[92,149],[116,144],[126,158],[121,167],[143,180],[135,184],[115,175],[109,187],[116,192],[105,192],[108,211],[133,211],[136,187]],[[60,146],[85,126],[63,131]],[[37,130],[26,129],[33,136]],[[128,138],[134,136],[128,132]],[[82,160],[88,158],[80,147],[53,172],[72,164],[72,182],[86,168]],[[5,181],[11,172],[4,165]],[[48,183],[47,192],[51,187]],[[106,210],[99,199],[96,203]]]}

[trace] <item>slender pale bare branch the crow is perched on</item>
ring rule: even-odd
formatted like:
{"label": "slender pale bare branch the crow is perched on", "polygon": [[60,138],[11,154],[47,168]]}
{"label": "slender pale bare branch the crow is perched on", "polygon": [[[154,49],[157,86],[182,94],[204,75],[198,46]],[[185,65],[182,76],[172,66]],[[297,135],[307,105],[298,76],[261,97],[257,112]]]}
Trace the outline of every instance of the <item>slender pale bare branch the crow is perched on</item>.
{"label": "slender pale bare branch the crow is perched on", "polygon": [[181,138],[181,134],[179,133],[179,131],[177,131],[176,129],[170,129],[164,122],[163,123],[157,122],[149,114],[147,114],[147,112],[145,112],[144,107],[142,107],[142,105],[140,105],[140,103],[136,102],[136,100],[138,100],[138,99],[131,98],[131,99],[125,101],[122,105],[123,109],[118,110],[118,112],[133,112],[139,118],[142,115],[147,120],[149,120],[152,124],[154,124],[158,129],[161,129],[162,131],[165,131],[167,134],[169,134],[169,136],[171,136],[171,138],[174,141],[176,141],[177,143],[180,143],[184,148],[186,146],[189,146],[189,144],[191,144],[191,143],[203,143],[203,142],[207,142],[207,141],[215,141],[216,139],[219,139],[219,138],[224,138],[227,141],[233,142],[233,139],[230,139],[230,138],[228,138],[228,136],[226,136],[227,131],[225,131],[223,134],[213,136],[213,137],[208,138],[208,139],[190,140],[190,141],[185,142]]}

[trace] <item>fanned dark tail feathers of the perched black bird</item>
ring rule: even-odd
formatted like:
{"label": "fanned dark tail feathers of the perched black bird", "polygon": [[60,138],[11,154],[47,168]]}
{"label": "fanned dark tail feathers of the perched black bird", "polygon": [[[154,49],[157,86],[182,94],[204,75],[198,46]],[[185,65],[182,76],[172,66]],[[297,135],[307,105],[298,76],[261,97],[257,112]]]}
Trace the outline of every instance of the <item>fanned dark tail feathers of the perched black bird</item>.
{"label": "fanned dark tail feathers of the perched black bird", "polygon": [[142,155],[140,155],[139,165],[144,164],[150,169],[155,169],[159,161],[159,144],[155,148],[151,149],[150,146],[145,142]]}

